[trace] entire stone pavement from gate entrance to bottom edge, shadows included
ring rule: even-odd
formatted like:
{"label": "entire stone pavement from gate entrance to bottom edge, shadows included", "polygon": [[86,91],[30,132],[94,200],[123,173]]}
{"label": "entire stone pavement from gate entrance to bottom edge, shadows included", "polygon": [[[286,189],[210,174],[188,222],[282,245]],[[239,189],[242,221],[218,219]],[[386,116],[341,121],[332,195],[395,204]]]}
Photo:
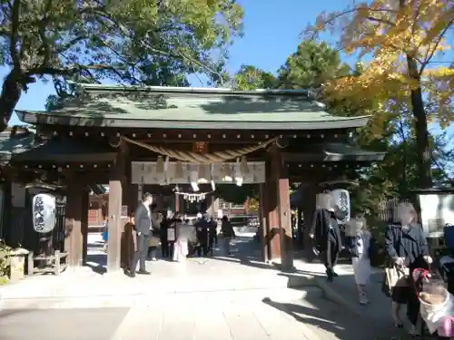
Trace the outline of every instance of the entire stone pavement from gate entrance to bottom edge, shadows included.
{"label": "entire stone pavement from gate entrance to bottom edge, shadows included", "polygon": [[105,253],[92,239],[91,267],[0,288],[1,339],[402,337],[380,292],[380,272],[372,276],[370,306],[360,306],[350,265],[340,265],[340,277],[329,284],[321,264],[296,260],[294,273],[282,273],[260,263],[260,249],[249,238],[238,238],[233,249],[232,257],[221,249],[214,258],[185,264],[149,262],[151,276],[131,279],[100,274]]}

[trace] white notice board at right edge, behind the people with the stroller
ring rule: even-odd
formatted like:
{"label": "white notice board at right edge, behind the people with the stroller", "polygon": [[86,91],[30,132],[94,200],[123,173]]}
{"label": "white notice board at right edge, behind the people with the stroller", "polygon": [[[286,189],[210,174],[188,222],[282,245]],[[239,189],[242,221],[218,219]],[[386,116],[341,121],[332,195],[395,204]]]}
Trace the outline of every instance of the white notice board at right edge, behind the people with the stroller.
{"label": "white notice board at right edge, behind the people with the stroller", "polygon": [[454,224],[454,193],[421,193],[421,222],[426,238],[443,236],[446,224]]}

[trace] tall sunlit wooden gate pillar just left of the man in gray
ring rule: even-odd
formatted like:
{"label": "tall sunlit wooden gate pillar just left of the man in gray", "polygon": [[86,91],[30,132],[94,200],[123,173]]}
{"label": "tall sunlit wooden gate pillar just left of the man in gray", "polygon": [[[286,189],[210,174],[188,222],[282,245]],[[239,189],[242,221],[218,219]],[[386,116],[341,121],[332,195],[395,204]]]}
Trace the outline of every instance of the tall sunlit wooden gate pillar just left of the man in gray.
{"label": "tall sunlit wooden gate pillar just left of the man in gray", "polygon": [[107,238],[107,271],[115,272],[121,267],[121,239],[123,232],[122,200],[123,181],[127,149],[124,143],[119,147],[109,173],[109,237]]}

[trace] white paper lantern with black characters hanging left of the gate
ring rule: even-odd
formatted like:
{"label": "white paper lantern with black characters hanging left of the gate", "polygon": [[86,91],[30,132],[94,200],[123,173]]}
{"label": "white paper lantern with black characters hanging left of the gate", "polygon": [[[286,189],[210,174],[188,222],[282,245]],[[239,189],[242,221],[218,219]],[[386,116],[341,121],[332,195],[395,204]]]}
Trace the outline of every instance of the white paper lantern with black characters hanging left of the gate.
{"label": "white paper lantern with black characters hanging left of the gate", "polygon": [[33,228],[38,233],[48,233],[55,227],[55,197],[37,194],[33,198]]}

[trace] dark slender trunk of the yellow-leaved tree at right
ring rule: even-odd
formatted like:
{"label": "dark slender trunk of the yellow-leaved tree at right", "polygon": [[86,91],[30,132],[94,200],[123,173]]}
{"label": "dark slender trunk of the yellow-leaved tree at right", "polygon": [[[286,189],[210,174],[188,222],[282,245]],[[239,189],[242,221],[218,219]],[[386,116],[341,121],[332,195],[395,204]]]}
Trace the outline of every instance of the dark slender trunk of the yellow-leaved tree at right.
{"label": "dark slender trunk of the yellow-leaved tree at right", "polygon": [[[419,83],[418,65],[416,61],[410,56],[407,56],[407,63],[410,76]],[[417,160],[419,160],[419,189],[428,189],[433,185],[432,151],[430,150],[428,121],[420,85],[416,89],[411,90],[410,96],[413,116],[415,118],[414,127],[416,133]]]}

